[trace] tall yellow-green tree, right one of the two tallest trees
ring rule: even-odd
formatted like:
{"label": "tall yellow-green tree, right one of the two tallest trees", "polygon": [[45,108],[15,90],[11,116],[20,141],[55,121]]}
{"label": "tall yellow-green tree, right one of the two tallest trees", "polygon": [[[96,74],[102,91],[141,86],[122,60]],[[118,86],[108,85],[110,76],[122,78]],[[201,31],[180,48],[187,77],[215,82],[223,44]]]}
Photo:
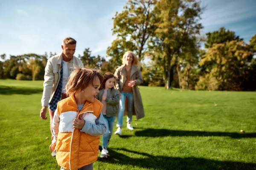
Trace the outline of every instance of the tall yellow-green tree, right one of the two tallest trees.
{"label": "tall yellow-green tree, right one of the two tallest trees", "polygon": [[[156,38],[152,38],[149,45],[158,46],[164,54],[166,88],[171,88],[177,56],[180,56],[182,48],[193,42],[190,40],[196,39],[203,28],[199,23],[201,11],[200,2],[195,0],[157,1],[154,13],[155,26],[158,28],[155,31]],[[176,59],[171,63],[173,57]]]}

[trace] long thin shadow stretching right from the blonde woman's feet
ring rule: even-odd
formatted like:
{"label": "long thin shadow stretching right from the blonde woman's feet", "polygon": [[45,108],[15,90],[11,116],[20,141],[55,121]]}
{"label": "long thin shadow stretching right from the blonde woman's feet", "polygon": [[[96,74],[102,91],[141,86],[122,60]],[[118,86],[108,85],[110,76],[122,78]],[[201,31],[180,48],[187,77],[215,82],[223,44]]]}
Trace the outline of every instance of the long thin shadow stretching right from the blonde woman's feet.
{"label": "long thin shadow stretching right from the blonde woman's feet", "polygon": [[234,133],[234,132],[205,132],[188,130],[168,129],[145,129],[135,132],[135,136],[229,136],[231,138],[256,138],[256,133]]}

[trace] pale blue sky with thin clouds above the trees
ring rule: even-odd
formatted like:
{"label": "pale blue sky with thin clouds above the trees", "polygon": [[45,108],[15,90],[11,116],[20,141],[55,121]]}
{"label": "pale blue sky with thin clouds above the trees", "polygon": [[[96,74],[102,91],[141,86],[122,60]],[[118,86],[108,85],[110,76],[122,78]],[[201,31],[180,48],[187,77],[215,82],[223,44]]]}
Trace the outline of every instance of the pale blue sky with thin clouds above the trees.
{"label": "pale blue sky with thin clouds above the trees", "polygon": [[[64,37],[77,41],[76,53],[90,48],[105,57],[113,20],[127,0],[0,0],[0,54],[61,53]],[[256,34],[256,0],[201,0],[202,34],[221,27],[249,42]]]}

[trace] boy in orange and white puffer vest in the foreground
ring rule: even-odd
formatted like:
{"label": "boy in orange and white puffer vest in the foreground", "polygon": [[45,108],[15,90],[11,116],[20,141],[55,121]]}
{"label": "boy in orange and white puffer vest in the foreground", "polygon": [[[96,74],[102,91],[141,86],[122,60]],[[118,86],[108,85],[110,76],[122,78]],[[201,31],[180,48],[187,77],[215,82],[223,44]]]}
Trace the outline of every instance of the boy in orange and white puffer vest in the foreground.
{"label": "boy in orange and white puffer vest in the foreground", "polygon": [[52,122],[56,160],[64,170],[93,170],[100,135],[106,131],[102,103],[96,99],[103,80],[99,71],[76,68],[66,85],[66,99],[58,102]]}

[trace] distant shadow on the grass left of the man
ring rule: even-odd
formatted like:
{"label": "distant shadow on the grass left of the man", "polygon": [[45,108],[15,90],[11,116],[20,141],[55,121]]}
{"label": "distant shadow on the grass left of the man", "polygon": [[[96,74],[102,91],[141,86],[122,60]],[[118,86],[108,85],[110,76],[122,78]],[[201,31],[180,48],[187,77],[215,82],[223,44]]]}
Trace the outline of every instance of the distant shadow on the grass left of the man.
{"label": "distant shadow on the grass left of the man", "polygon": [[11,94],[37,94],[42,93],[43,89],[39,88],[26,88],[26,87],[13,87],[0,85],[0,94],[11,95]]}

